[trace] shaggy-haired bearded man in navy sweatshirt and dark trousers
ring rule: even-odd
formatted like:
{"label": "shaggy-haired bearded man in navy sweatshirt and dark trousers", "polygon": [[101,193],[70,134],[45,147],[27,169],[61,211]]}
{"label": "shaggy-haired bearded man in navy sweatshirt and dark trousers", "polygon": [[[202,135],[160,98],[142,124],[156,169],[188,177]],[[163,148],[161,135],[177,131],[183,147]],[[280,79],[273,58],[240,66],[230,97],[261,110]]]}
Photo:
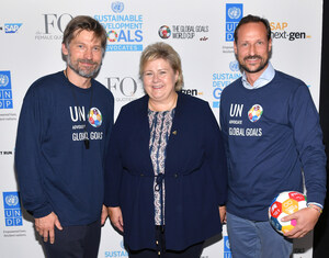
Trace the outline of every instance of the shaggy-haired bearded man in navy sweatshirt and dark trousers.
{"label": "shaggy-haired bearded man in navy sweatshirt and dark trousers", "polygon": [[93,77],[106,38],[94,19],[72,19],[61,44],[66,69],[36,80],[23,101],[15,168],[47,257],[98,257],[114,100]]}

